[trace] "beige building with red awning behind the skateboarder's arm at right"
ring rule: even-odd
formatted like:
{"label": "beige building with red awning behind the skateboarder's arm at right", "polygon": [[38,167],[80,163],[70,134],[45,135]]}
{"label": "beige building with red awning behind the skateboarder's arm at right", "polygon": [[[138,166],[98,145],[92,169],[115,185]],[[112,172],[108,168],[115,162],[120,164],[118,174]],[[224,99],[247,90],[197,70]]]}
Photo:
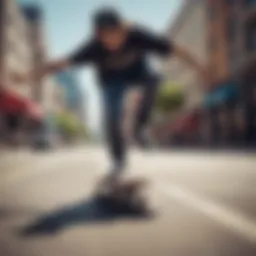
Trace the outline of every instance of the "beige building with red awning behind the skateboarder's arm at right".
{"label": "beige building with red awning behind the skateboarder's arm at right", "polygon": [[[167,35],[172,42],[191,52],[205,65],[208,63],[206,9],[207,3],[204,0],[184,1],[179,13],[167,29]],[[195,70],[176,58],[171,58],[164,63],[163,75],[167,83],[181,88],[184,104],[169,117],[161,118],[162,121],[154,132],[155,136],[171,143],[179,130],[182,136],[186,137],[185,140],[192,141],[194,139],[192,137],[198,137],[198,133],[201,133],[199,123],[196,127],[194,121],[193,124],[191,121],[195,119],[194,117],[198,120],[198,109],[202,105],[204,88],[201,81]],[[174,127],[180,127],[180,129],[174,129]]]}

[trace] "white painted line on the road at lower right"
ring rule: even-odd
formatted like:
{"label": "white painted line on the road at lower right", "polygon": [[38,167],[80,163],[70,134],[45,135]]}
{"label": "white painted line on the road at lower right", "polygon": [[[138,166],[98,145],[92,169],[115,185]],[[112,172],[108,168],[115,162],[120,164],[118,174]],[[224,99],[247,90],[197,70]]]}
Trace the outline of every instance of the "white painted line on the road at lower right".
{"label": "white painted line on the road at lower right", "polygon": [[160,184],[158,189],[170,198],[201,212],[237,235],[256,244],[256,222],[246,216],[180,186]]}

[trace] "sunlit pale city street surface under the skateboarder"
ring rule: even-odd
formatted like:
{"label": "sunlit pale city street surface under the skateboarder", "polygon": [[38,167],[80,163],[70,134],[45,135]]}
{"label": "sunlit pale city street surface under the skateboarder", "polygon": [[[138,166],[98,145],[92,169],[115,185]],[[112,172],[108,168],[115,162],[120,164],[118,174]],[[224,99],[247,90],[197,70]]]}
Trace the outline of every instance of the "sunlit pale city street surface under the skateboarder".
{"label": "sunlit pale city street surface under the skateboarder", "polygon": [[9,161],[0,173],[1,256],[256,255],[255,154],[133,149],[129,174],[149,180],[151,218],[94,209],[108,166],[101,147]]}

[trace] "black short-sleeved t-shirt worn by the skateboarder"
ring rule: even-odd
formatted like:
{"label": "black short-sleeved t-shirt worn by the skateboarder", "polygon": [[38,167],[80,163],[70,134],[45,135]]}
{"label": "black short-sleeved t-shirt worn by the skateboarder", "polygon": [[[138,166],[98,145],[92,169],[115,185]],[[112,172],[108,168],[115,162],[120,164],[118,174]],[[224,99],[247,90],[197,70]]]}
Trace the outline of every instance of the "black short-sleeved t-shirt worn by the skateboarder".
{"label": "black short-sleeved t-shirt worn by the skateboarder", "polygon": [[90,63],[96,66],[103,84],[116,79],[136,82],[151,73],[146,60],[149,54],[164,57],[171,52],[172,44],[166,38],[133,27],[120,50],[111,52],[93,38],[69,60],[74,65]]}

